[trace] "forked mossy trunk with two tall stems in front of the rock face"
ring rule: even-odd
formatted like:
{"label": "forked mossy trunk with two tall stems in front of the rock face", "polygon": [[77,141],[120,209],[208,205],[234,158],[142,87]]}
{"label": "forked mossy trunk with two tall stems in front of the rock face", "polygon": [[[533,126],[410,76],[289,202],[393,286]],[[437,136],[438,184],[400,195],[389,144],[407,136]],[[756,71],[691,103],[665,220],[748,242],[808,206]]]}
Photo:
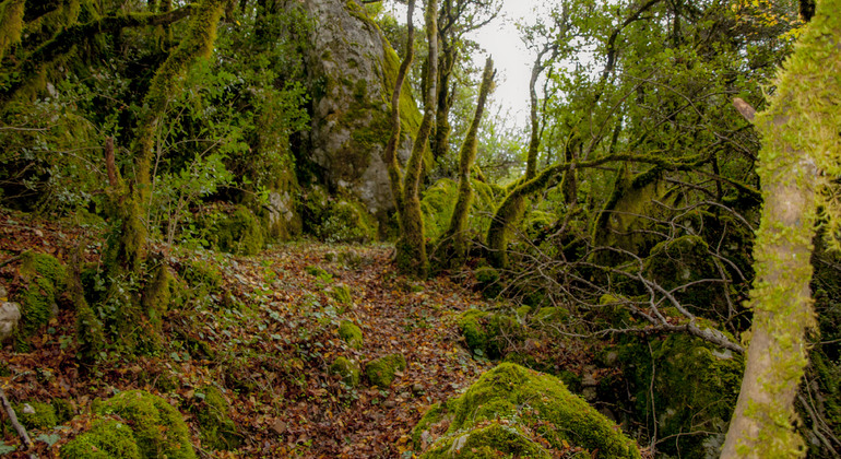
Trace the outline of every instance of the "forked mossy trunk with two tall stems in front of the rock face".
{"label": "forked mossy trunk with two tall stems in front of the rock face", "polygon": [[[414,1],[410,2],[410,11],[414,9]],[[411,12],[410,12],[411,14]],[[405,73],[408,70],[413,57],[413,33],[406,44],[406,57],[398,71],[398,81],[392,96],[392,133],[383,153],[386,164],[389,167],[391,189],[398,208],[400,221],[400,239],[396,243],[398,270],[405,274],[425,278],[429,271],[429,261],[426,255],[426,239],[424,239],[424,220],[420,211],[420,173],[423,169],[424,154],[428,149],[429,134],[433,130],[433,121],[436,113],[437,80],[438,80],[438,1],[428,0],[426,3],[426,38],[428,42],[428,58],[426,62],[426,84],[424,87],[424,118],[415,136],[412,154],[406,163],[404,173],[400,170],[396,160],[396,143],[400,140],[400,91]],[[410,15],[411,23],[411,15]],[[411,27],[411,26],[410,26]],[[412,32],[413,28],[410,28]],[[402,177],[401,177],[402,176]]]}

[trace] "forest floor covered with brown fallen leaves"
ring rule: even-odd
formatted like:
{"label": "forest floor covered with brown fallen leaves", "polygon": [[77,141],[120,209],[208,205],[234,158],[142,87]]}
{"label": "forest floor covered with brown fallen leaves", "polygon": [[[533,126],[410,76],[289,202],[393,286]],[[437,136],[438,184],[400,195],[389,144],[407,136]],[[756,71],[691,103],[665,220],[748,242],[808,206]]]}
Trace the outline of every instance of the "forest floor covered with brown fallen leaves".
{"label": "forest floor covered with brown fallen leaves", "polygon": [[[10,297],[23,287],[20,263],[5,261],[25,250],[67,263],[81,243],[88,266],[96,263],[103,234],[0,211],[0,283]],[[72,405],[72,421],[29,433],[40,458],[59,457],[61,445],[90,426],[94,400],[130,389],[149,390],[177,408],[199,457],[412,457],[408,434],[425,410],[489,368],[464,349],[455,325],[462,310],[489,305],[470,279],[396,275],[392,250],[315,243],[281,245],[257,257],[174,250],[166,260],[176,276],[197,264],[215,267],[222,276],[215,287],[170,306],[158,352],[109,351],[94,363],[83,362],[66,295],[58,315],[29,340],[29,352],[15,352],[9,343],[0,350],[0,385],[12,402],[64,399]],[[324,272],[313,275],[311,267]],[[350,287],[348,305],[330,294],[341,285]],[[342,320],[362,328],[362,349],[340,339]],[[364,377],[351,388],[329,372],[337,356],[364,366],[392,353],[403,354],[407,367],[387,389],[370,387]],[[202,445],[193,413],[209,385],[230,403],[239,437],[232,451]],[[4,414],[0,419],[5,421]],[[2,440],[21,444],[8,425]]]}

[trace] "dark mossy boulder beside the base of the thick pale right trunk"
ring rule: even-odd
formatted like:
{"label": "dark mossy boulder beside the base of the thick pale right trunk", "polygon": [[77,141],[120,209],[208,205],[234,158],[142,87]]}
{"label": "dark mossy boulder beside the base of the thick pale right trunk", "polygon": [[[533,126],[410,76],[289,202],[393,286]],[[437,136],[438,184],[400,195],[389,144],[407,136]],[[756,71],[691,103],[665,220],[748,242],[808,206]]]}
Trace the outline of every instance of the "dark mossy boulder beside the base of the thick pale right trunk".
{"label": "dark mossy boulder beside the base of the thick pale right trunk", "polygon": [[682,333],[628,337],[618,353],[625,378],[608,397],[627,399],[630,389],[636,404],[628,408],[648,420],[649,428],[655,410],[658,436],[674,438],[658,449],[683,458],[718,457],[738,398],[743,356]]}

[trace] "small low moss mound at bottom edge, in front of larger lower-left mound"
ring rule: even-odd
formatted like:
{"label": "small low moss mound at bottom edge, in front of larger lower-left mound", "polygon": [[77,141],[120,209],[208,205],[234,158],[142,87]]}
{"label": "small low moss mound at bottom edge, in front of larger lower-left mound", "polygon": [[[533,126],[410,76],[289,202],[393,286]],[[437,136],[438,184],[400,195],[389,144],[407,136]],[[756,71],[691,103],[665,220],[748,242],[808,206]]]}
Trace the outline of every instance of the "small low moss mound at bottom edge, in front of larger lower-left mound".
{"label": "small low moss mound at bottom edge, in front of larger lower-left mound", "polygon": [[[141,459],[134,434],[125,422],[99,420],[61,447],[61,459]],[[154,457],[154,456],[153,456]]]}

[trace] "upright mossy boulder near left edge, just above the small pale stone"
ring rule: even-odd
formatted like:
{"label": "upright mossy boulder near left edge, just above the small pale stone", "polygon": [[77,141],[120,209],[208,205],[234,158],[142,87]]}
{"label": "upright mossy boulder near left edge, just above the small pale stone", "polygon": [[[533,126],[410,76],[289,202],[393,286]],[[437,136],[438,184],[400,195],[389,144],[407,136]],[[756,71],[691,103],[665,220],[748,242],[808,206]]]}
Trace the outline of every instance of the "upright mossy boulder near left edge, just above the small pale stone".
{"label": "upright mossy boulder near left edge, just above the small pale stone", "polygon": [[15,336],[17,348],[26,350],[26,339],[58,313],[59,296],[67,289],[67,270],[52,256],[26,252],[20,273],[26,286],[19,293],[21,321]]}

